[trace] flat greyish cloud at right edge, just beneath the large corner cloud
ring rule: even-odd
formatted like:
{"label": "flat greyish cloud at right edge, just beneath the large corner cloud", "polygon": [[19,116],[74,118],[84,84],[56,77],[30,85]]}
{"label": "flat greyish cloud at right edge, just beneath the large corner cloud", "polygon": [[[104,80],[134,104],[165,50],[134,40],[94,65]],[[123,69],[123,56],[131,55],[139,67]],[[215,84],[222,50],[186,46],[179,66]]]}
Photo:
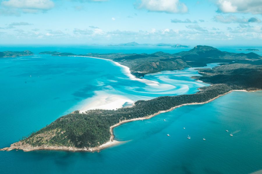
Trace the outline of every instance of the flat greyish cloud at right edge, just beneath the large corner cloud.
{"label": "flat greyish cloud at right edge, just beneath the large corner cloud", "polygon": [[249,23],[249,22],[261,23],[261,20],[256,17],[251,17],[249,19],[246,19],[244,17],[238,18],[234,15],[228,15],[228,16],[217,15],[213,18],[213,20],[221,23]]}

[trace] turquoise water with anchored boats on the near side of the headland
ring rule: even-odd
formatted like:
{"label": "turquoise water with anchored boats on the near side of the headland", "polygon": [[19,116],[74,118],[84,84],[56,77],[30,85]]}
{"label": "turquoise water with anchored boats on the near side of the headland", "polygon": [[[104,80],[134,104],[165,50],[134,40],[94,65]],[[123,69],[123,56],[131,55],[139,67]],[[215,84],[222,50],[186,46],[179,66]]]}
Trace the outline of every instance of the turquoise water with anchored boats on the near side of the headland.
{"label": "turquoise water with anchored boats on the near side of the headland", "polygon": [[[114,129],[116,139],[130,141],[100,153],[1,152],[1,170],[4,173],[252,173],[262,169],[261,98],[261,91],[233,92],[208,104],[183,106],[148,120],[123,124]],[[226,129],[232,131],[233,137]],[[186,138],[188,134],[190,140]]]}

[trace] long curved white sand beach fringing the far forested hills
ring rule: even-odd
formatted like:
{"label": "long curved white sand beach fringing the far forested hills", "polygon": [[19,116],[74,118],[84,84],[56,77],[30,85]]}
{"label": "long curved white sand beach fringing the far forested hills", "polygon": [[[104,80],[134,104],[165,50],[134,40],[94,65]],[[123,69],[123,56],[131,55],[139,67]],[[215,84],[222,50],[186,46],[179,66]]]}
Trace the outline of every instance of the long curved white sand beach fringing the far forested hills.
{"label": "long curved white sand beach fringing the far forested hills", "polygon": [[[90,56],[68,56],[68,57],[90,57]],[[124,74],[127,75],[131,80],[136,80],[136,81],[140,81],[146,85],[150,85],[150,86],[159,86],[159,82],[157,81],[153,81],[153,80],[148,80],[148,79],[139,79],[136,78],[134,75],[131,74],[130,68],[128,68],[127,66],[121,65],[116,61],[113,61],[111,59],[104,59],[104,58],[99,58],[99,57],[90,57],[93,59],[103,59],[103,60],[107,60],[107,61],[111,61],[112,63],[114,63],[116,66],[120,66],[121,68],[123,68],[124,70]]]}

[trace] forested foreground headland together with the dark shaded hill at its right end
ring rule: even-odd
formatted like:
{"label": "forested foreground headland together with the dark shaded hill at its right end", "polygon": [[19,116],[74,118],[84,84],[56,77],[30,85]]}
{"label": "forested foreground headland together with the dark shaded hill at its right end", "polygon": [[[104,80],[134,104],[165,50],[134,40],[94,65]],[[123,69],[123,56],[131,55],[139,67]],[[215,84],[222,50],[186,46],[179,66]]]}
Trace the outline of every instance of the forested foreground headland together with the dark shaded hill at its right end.
{"label": "forested foreground headland together with the dark shaded hill at its right end", "polygon": [[[207,102],[231,90],[262,89],[262,66],[256,64],[224,64],[199,72],[203,77],[194,77],[212,86],[202,87],[195,94],[158,97],[147,101],[137,101],[131,108],[117,110],[88,110],[74,112],[56,119],[45,128],[12,145],[11,149],[50,146],[89,148],[99,146],[110,139],[110,126],[120,121],[147,117],[161,110],[188,103]],[[47,113],[48,114],[48,113]]]}

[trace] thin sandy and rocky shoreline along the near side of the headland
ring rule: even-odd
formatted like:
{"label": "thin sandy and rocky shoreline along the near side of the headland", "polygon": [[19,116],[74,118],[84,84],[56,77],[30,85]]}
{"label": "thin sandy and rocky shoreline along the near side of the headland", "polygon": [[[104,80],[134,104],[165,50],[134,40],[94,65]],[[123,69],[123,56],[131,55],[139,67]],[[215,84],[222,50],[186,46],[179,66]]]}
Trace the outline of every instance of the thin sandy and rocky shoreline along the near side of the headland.
{"label": "thin sandy and rocky shoreline along the near side of the headland", "polygon": [[224,93],[224,94],[221,94],[221,95],[218,95],[217,97],[214,97],[213,99],[210,99],[206,102],[200,102],[200,103],[187,103],[187,104],[181,104],[181,105],[178,105],[178,106],[174,106],[168,110],[161,110],[155,114],[152,114],[152,115],[149,115],[147,117],[139,117],[139,118],[134,118],[134,119],[130,119],[130,120],[124,120],[124,121],[121,121],[113,126],[110,126],[110,133],[111,133],[111,137],[109,139],[108,142],[100,145],[100,146],[96,146],[96,147],[93,147],[93,148],[76,148],[76,147],[67,147],[67,146],[36,146],[36,147],[33,147],[31,146],[30,144],[23,144],[21,141],[19,142],[15,142],[13,144],[10,145],[10,147],[6,147],[6,148],[2,148],[0,149],[0,151],[12,151],[12,150],[23,150],[24,152],[29,152],[29,151],[36,151],[36,150],[54,150],[54,151],[72,151],[72,152],[79,152],[79,151],[86,151],[86,152],[99,152],[100,150],[104,149],[104,148],[109,148],[111,146],[115,146],[117,144],[121,144],[121,143],[124,143],[124,142],[119,142],[119,141],[116,141],[114,140],[114,128],[117,127],[117,126],[120,126],[121,124],[125,124],[125,123],[128,123],[128,122],[133,122],[133,121],[137,121],[137,120],[144,120],[144,119],[150,119],[156,115],[159,115],[161,113],[166,113],[166,112],[170,112],[176,108],[179,108],[181,106],[187,106],[187,105],[198,105],[198,104],[206,104],[206,103],[209,103],[221,96],[224,96],[226,94],[229,94],[233,91],[242,91],[242,92],[255,92],[255,91],[258,91],[258,90],[250,90],[250,91],[247,91],[247,90],[231,90],[227,93]]}

